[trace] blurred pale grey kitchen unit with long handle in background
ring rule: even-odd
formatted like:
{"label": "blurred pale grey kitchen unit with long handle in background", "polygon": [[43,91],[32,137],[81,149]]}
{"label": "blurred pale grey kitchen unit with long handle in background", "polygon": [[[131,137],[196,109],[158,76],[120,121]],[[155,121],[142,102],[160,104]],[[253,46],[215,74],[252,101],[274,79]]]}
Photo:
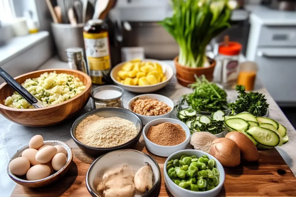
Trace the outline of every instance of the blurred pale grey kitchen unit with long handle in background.
{"label": "blurred pale grey kitchen unit with long handle in background", "polygon": [[252,14],[247,60],[258,64],[258,79],[279,105],[296,105],[296,12],[248,9]]}

